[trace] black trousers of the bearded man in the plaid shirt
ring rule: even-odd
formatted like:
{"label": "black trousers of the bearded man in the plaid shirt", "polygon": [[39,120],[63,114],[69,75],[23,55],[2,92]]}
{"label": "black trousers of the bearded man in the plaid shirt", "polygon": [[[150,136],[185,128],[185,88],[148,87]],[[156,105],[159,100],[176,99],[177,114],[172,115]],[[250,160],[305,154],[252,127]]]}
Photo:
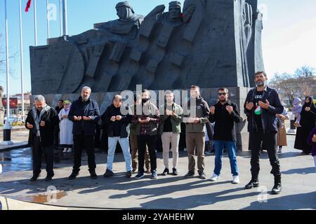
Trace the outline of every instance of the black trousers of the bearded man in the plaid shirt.
{"label": "black trousers of the bearded man in the plaid shirt", "polygon": [[145,161],[145,152],[146,145],[148,146],[148,151],[150,154],[150,172],[156,171],[157,169],[157,155],[155,152],[157,146],[157,135],[138,135],[137,144],[138,144],[138,172],[144,172],[144,161]]}

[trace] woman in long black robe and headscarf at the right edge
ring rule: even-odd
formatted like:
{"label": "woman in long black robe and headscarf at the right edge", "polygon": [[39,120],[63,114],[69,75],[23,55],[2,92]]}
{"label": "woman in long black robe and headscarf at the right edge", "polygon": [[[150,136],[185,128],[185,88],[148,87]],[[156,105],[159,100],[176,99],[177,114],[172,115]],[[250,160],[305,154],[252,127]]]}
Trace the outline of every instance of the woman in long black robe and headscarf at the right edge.
{"label": "woman in long black robe and headscarf at the right edge", "polygon": [[312,102],[312,97],[305,97],[305,103],[301,111],[301,120],[299,123],[296,120],[296,138],[294,148],[303,151],[305,155],[308,155],[312,151],[312,146],[307,144],[307,139],[310,132],[315,127],[316,120],[316,108]]}

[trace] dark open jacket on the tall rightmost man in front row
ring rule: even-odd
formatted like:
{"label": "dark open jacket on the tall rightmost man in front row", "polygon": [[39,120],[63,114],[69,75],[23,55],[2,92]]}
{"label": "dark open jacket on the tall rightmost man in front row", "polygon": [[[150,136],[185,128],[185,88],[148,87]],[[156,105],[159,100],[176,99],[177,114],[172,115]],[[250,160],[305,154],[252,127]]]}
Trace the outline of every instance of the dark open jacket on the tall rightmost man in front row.
{"label": "dark open jacket on the tall rightmost man in front row", "polygon": [[[244,102],[244,113],[246,113],[246,116],[248,118],[248,132],[258,131],[254,118],[255,106],[251,111],[248,111],[246,109],[246,102],[253,102],[255,104],[255,95],[256,88],[253,88],[248,92],[246,101]],[[281,104],[281,100],[279,99],[279,94],[277,93],[277,90],[272,89],[268,86],[263,91],[261,101],[265,103],[265,99],[268,99],[270,107],[268,110],[262,109],[261,121],[263,132],[277,132],[277,118],[275,117],[275,115],[281,114],[284,110],[284,107]]]}

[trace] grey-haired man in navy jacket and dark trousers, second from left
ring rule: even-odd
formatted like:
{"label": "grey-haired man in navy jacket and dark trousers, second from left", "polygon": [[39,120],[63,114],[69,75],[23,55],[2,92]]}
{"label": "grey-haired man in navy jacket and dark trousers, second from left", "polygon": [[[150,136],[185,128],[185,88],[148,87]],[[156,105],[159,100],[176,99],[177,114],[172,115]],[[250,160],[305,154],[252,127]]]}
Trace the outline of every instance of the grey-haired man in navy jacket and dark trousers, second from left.
{"label": "grey-haired man in navy jacket and dark trousers, second from left", "polygon": [[68,179],[75,179],[81,167],[81,154],[86,148],[88,155],[88,167],[91,179],[97,179],[96,159],[94,155],[94,136],[96,135],[96,123],[100,119],[98,103],[90,99],[91,88],[83,87],[79,99],[72,103],[68,119],[74,123],[74,167]]}

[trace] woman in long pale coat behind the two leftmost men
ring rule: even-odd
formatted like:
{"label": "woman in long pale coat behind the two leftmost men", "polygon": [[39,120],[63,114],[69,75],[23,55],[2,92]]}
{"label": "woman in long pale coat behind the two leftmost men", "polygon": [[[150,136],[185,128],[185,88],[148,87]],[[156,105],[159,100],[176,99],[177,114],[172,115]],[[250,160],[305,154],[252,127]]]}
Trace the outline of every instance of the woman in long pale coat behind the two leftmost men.
{"label": "woman in long pale coat behind the two leftmost men", "polygon": [[64,108],[59,112],[60,120],[60,145],[64,147],[63,153],[71,153],[72,145],[74,144],[72,135],[72,121],[68,119],[68,113],[70,111],[71,103],[66,100],[64,103]]}

